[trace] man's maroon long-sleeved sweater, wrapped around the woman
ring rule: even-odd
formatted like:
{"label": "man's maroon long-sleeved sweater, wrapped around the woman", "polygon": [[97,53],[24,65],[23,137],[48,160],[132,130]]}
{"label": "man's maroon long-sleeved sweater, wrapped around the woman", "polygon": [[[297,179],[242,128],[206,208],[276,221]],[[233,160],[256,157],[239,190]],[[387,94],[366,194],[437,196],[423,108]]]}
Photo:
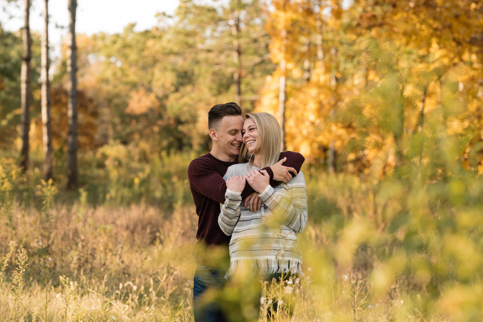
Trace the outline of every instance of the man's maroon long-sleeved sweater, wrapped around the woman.
{"label": "man's maroon long-sleeved sweater, wrapped around the woman", "polygon": [[[297,152],[282,152],[280,159],[287,157],[284,166],[292,167],[300,171],[305,158]],[[227,172],[230,165],[237,162],[225,162],[216,159],[207,153],[198,159],[191,161],[188,167],[189,187],[193,195],[193,201],[196,205],[196,213],[198,214],[198,231],[196,232],[197,255],[196,262],[198,264],[209,265],[209,260],[203,259],[200,255],[200,246],[207,247],[218,246],[226,248],[228,251],[228,243],[230,236],[227,236],[218,226],[218,215],[220,214],[220,203],[225,202],[225,192],[227,184],[223,180],[223,176]],[[276,187],[280,185],[279,181],[273,180],[273,172],[270,167],[264,168],[270,174],[270,185]],[[293,175],[293,174],[292,174]],[[248,184],[245,185],[241,193],[242,200],[245,200],[250,194],[255,192]],[[211,265],[216,266],[216,265]]]}

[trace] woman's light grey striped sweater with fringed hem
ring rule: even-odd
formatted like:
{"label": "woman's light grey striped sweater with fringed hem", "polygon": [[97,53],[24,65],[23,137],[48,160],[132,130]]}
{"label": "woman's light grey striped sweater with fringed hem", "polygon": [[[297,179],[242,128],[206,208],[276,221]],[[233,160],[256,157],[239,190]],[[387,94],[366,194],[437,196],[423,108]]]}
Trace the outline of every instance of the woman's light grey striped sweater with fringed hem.
{"label": "woman's light grey striped sweater with fringed hem", "polygon": [[[251,167],[250,170],[257,169]],[[248,164],[228,167],[224,179],[249,173]],[[218,224],[228,236],[230,268],[227,277],[248,267],[256,274],[298,273],[302,252],[298,234],[307,226],[307,189],[302,172],[288,183],[259,194],[261,209],[252,213],[245,209],[241,193],[227,189],[221,204]]]}

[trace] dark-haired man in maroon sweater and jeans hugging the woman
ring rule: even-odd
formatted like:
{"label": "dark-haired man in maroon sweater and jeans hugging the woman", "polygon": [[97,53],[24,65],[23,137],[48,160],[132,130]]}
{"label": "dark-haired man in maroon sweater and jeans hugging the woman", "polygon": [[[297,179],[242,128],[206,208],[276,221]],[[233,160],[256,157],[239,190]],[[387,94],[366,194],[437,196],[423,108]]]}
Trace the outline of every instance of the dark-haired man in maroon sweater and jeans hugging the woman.
{"label": "dark-haired man in maroon sweater and jeans hugging the woman", "polygon": [[[220,203],[225,202],[227,191],[223,176],[230,165],[237,163],[237,156],[243,144],[242,127],[243,117],[238,104],[231,102],[213,106],[208,112],[208,128],[213,148],[211,152],[191,161],[188,167],[189,186],[199,216],[196,233],[197,267],[193,286],[195,322],[225,319],[216,302],[206,304],[207,290],[221,288],[229,266],[230,236],[225,235],[218,226],[218,215]],[[292,174],[297,175],[304,160],[299,153],[282,152],[278,163],[262,170],[267,171],[270,175],[270,185],[275,187],[280,182],[288,182]],[[245,200],[245,208],[250,207],[252,211],[260,209],[262,202],[248,184],[245,185],[241,197]]]}

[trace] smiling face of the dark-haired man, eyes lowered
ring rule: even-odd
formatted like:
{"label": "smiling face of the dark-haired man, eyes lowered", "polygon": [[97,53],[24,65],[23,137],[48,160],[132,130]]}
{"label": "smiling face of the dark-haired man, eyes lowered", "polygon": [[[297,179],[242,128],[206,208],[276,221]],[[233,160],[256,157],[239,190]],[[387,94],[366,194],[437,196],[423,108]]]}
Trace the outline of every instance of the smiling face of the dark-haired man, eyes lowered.
{"label": "smiling face of the dark-haired man, eyes lowered", "polygon": [[241,136],[241,128],[243,127],[243,118],[241,115],[227,115],[221,119],[216,131],[218,148],[229,157],[240,154],[243,137]]}

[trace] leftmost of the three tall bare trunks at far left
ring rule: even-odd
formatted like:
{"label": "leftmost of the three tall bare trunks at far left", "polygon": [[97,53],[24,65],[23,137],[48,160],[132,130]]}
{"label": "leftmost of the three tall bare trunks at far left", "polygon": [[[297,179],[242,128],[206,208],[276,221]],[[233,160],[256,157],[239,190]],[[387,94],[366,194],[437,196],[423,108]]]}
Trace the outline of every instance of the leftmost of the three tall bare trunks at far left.
{"label": "leftmost of the three tall bare trunks at far left", "polygon": [[28,168],[28,132],[30,131],[30,60],[31,60],[31,43],[30,38],[30,0],[25,0],[24,12],[25,27],[22,30],[22,39],[24,43],[24,55],[22,58],[22,70],[20,75],[21,82],[21,128],[22,128],[22,151],[20,166],[23,171]]}

